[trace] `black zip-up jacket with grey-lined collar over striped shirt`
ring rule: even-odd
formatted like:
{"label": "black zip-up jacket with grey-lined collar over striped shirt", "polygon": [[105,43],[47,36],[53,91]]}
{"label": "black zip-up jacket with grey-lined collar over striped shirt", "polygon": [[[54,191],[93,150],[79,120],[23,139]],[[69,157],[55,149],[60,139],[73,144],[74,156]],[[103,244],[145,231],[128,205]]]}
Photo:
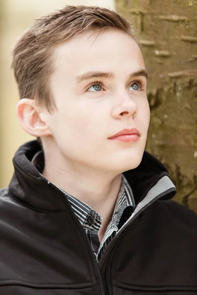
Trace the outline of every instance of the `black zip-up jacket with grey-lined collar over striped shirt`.
{"label": "black zip-up jacket with grey-lined collar over striped shirt", "polygon": [[136,208],[99,265],[65,195],[16,152],[0,191],[0,295],[197,295],[197,215],[173,201],[163,164],[144,152],[125,174]]}

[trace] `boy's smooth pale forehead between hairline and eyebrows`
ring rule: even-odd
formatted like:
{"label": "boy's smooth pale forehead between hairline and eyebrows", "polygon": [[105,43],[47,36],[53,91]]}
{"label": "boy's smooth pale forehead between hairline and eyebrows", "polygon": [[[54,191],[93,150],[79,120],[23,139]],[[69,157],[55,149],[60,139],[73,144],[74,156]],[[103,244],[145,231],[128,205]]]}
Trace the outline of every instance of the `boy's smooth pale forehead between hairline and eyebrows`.
{"label": "boy's smooth pale forehead between hairline and eyebrows", "polygon": [[54,70],[69,71],[77,75],[84,71],[131,72],[144,68],[141,51],[127,33],[115,29],[89,31],[81,34],[54,51]]}

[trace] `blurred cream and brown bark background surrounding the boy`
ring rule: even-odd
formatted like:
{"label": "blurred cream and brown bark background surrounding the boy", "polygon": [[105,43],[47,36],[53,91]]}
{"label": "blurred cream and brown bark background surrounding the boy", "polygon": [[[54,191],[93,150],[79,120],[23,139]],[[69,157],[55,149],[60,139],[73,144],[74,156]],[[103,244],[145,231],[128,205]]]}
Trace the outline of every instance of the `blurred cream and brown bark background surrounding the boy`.
{"label": "blurred cream and brown bark background surrounding the boy", "polygon": [[111,8],[134,26],[149,73],[146,150],[169,169],[175,200],[197,212],[197,0],[0,1],[0,187],[12,177],[16,149],[33,139],[15,115],[11,50],[34,18],[64,5]]}

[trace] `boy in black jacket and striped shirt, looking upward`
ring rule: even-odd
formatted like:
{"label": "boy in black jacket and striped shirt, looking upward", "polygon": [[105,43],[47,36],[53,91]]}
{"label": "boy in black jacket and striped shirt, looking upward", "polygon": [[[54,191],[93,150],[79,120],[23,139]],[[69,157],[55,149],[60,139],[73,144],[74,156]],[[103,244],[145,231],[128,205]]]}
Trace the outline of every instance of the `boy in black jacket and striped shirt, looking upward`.
{"label": "boy in black jacket and striped shirt, looking upward", "polygon": [[66,6],[18,40],[23,129],[0,194],[0,294],[197,294],[197,216],[144,152],[147,72],[129,23]]}

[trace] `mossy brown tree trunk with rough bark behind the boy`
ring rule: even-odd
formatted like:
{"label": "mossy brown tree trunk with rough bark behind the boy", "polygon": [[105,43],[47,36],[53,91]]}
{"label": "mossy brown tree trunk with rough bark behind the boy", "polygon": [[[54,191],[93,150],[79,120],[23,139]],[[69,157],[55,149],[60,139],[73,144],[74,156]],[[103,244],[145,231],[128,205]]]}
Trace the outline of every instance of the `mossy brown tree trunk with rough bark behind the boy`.
{"label": "mossy brown tree trunk with rough bark behind the boy", "polygon": [[197,1],[116,0],[149,73],[146,150],[169,169],[175,200],[197,212]]}

